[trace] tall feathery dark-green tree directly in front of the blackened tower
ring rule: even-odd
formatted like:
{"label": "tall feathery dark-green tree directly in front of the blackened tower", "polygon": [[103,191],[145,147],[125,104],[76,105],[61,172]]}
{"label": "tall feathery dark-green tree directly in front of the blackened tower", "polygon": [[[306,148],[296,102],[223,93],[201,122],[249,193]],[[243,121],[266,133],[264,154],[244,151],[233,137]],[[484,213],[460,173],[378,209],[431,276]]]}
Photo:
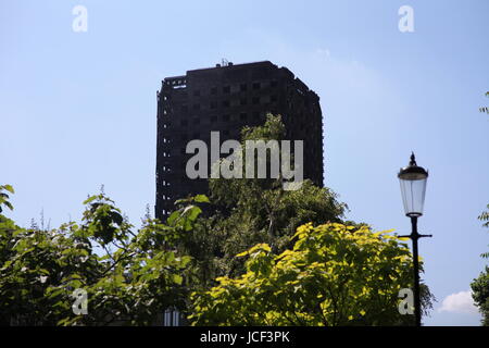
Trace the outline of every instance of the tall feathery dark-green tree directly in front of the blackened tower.
{"label": "tall feathery dark-green tree directly in front of the blackened tower", "polygon": [[[285,126],[280,116],[268,114],[264,125],[244,127],[241,135],[242,152],[237,154],[246,158],[247,140],[281,140]],[[244,173],[244,161],[242,165]],[[235,256],[255,244],[266,243],[280,253],[292,247],[290,237],[298,226],[342,222],[348,207],[338,202],[330,189],[310,181],[297,190],[285,190],[281,184],[281,177],[210,179],[208,214],[199,219],[180,247],[192,256],[197,284],[209,287],[218,276],[246,272],[244,261]]]}

